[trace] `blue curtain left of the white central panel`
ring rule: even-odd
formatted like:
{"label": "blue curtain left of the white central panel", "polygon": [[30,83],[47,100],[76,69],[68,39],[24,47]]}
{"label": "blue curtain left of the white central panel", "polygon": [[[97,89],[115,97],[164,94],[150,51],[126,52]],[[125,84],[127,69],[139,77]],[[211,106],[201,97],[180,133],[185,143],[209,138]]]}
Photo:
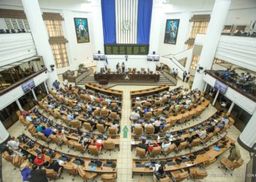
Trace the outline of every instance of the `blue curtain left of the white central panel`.
{"label": "blue curtain left of the white central panel", "polygon": [[115,0],[102,0],[104,44],[116,44]]}

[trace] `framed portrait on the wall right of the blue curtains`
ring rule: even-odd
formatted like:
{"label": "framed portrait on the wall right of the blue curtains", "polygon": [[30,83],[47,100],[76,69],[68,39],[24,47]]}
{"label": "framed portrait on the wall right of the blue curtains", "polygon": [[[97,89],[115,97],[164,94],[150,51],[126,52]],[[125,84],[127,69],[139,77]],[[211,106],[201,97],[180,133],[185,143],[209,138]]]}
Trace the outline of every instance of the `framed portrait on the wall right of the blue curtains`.
{"label": "framed portrait on the wall right of the blue curtains", "polygon": [[165,26],[165,44],[176,44],[178,36],[179,19],[166,20]]}

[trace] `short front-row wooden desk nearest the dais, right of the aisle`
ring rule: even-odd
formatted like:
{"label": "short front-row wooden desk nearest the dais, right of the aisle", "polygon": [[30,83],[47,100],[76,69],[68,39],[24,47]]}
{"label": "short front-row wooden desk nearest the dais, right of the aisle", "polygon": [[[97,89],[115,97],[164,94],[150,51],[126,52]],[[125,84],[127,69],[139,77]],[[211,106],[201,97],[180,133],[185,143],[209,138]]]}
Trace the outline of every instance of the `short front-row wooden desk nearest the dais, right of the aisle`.
{"label": "short front-row wooden desk nearest the dais, right of the aisle", "polygon": [[151,89],[146,89],[146,90],[136,90],[136,91],[131,91],[131,98],[137,98],[137,97],[141,97],[141,96],[146,96],[146,95],[153,95],[153,94],[157,94],[159,92],[163,92],[165,90],[169,90],[170,86],[165,84],[159,87],[154,87]]}

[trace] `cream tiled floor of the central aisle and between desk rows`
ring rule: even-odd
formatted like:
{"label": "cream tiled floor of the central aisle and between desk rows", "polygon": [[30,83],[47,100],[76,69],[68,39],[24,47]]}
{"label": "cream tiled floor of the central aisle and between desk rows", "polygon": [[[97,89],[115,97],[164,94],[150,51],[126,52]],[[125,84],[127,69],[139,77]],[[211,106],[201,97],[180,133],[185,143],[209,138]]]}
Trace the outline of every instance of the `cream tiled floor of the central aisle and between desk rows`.
{"label": "cream tiled floor of the central aisle and between desk rows", "polygon": [[[183,85],[184,83],[181,81],[178,81],[178,86]],[[113,152],[111,154],[111,156],[109,156],[109,153],[107,152],[106,154],[102,154],[100,157],[101,158],[117,158],[117,162],[118,162],[118,179],[117,181],[138,181],[139,179],[144,179],[146,181],[153,181],[152,175],[135,175],[134,178],[132,178],[132,157],[135,157],[135,151],[131,152],[131,132],[130,132],[130,123],[129,123],[129,114],[130,114],[130,98],[129,98],[129,92],[132,90],[142,90],[142,89],[148,89],[151,88],[152,86],[116,86],[113,87],[113,89],[116,90],[123,90],[124,92],[124,100],[123,100],[123,108],[122,108],[122,119],[121,119],[121,130],[124,128],[125,125],[127,125],[129,132],[127,135],[127,138],[123,137],[123,132],[121,132],[121,146],[120,146],[120,151],[118,152],[117,149],[115,152]],[[170,89],[175,88],[170,87]],[[203,112],[203,114],[201,115],[201,119],[198,119],[198,121],[195,122],[190,122],[186,127],[189,127],[189,125],[193,125],[196,124],[197,122],[203,121],[204,119],[208,118],[208,116],[211,116],[214,112],[215,112],[215,108],[209,106],[206,111]],[[20,124],[19,122],[15,123],[12,127],[10,127],[10,129],[8,130],[10,132],[11,135],[17,136],[20,133],[23,132],[24,127],[22,126],[22,124]],[[176,127],[176,130],[178,130],[179,128]],[[236,140],[238,138],[238,135],[240,135],[240,132],[236,129],[236,127],[230,127],[230,129],[227,130],[228,133],[227,135],[230,138],[233,138],[234,140]],[[26,131],[25,131],[26,132]],[[238,143],[237,143],[238,145]],[[54,148],[54,145],[50,145],[50,147]],[[57,148],[59,149],[59,148]],[[239,167],[238,169],[233,171],[233,177],[227,176],[227,177],[214,177],[214,175],[230,175],[230,172],[226,172],[225,170],[221,167],[218,168],[220,166],[219,163],[219,159],[221,159],[222,157],[227,157],[227,155],[229,154],[228,151],[223,154],[221,157],[219,157],[219,159],[217,160],[217,162],[214,162],[214,164],[206,167],[206,171],[208,172],[208,177],[204,178],[202,181],[244,181],[243,177],[237,177],[236,175],[244,175],[245,170],[246,170],[246,163],[249,161],[249,153],[244,150],[243,148],[241,148],[241,146],[239,146],[239,149],[241,151],[241,157],[244,159],[244,165],[242,165],[241,167]],[[67,148],[64,146],[62,151],[66,151],[67,152]],[[70,150],[70,153],[72,154],[76,154],[75,151]],[[86,156],[87,154],[85,154],[84,156]],[[88,154],[89,155],[89,154]],[[89,157],[89,156],[88,156]],[[4,159],[2,160],[2,173],[3,173],[3,180],[4,182],[18,182],[18,181],[22,181],[21,175],[20,175],[20,171],[18,169],[13,170],[14,167],[12,164],[10,164],[10,162],[6,162]],[[61,177],[63,177],[64,179],[59,179],[57,181],[72,181],[72,177],[70,177],[66,172],[64,172]],[[75,177],[75,181],[83,181],[78,175]],[[94,181],[101,181],[100,177],[97,177],[96,180]],[[193,181],[192,179],[189,180],[185,180],[185,181]]]}

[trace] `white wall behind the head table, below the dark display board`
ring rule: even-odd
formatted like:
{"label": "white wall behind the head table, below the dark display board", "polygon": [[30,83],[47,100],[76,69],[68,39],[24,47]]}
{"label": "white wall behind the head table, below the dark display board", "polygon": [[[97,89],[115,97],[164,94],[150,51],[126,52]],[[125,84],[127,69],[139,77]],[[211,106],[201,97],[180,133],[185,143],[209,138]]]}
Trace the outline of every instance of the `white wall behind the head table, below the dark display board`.
{"label": "white wall behind the head table, below the dark display board", "polygon": [[[128,55],[128,60],[126,61],[124,55],[107,55],[108,58],[108,68],[111,71],[116,71],[116,64],[124,62],[125,68],[136,68],[137,71],[140,71],[140,68],[149,68],[150,71],[155,73],[157,62],[147,61],[146,55]],[[97,61],[97,71],[100,71],[100,68],[105,68],[105,61],[99,60]]]}

